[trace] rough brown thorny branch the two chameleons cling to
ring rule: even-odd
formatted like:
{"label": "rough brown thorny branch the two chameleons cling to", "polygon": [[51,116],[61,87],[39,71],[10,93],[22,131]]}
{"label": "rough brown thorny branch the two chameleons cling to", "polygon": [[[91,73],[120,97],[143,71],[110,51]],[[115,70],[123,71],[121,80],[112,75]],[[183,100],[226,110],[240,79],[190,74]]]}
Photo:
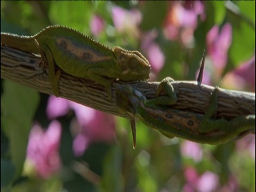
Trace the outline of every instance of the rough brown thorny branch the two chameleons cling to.
{"label": "rough brown thorny branch the two chameleons cling to", "polygon": [[[32,87],[39,92],[53,94],[47,74],[47,66],[43,64],[40,55],[1,45],[1,78]],[[129,118],[116,106],[115,102],[115,87],[125,83],[127,82],[113,82],[113,97],[110,100],[102,85],[62,72],[59,81],[60,97],[106,113]],[[159,82],[129,82],[129,84],[150,99],[154,98]],[[172,105],[172,108],[199,114],[205,113],[214,87],[198,85],[194,81],[174,81],[172,85],[178,96],[178,102]],[[231,119],[250,114],[255,114],[255,93],[220,89],[217,117]]]}

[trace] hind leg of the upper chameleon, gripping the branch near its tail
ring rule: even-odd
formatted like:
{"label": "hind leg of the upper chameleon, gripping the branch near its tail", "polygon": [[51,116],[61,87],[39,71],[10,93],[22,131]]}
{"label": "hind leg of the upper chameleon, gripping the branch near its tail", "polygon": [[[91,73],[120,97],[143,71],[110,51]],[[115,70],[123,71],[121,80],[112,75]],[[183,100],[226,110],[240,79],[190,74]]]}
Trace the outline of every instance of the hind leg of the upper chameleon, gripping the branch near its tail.
{"label": "hind leg of the upper chameleon, gripping the branch near its tail", "polygon": [[61,76],[61,70],[58,69],[57,73],[55,73],[55,65],[54,65],[55,61],[53,59],[52,52],[49,49],[49,47],[45,44],[39,45],[39,43],[36,41],[36,39],[35,39],[35,43],[41,52],[43,62],[45,63],[46,66],[48,66],[48,69],[49,69],[48,79],[52,85],[53,94],[56,97],[59,97],[59,95],[60,95],[59,94],[59,79]]}

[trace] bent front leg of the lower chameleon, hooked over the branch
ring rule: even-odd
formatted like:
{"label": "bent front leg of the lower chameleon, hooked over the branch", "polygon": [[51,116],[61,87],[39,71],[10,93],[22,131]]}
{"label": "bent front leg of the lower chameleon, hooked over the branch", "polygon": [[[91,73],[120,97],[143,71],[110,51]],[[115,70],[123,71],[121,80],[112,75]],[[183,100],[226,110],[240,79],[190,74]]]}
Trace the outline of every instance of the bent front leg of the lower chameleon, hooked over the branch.
{"label": "bent front leg of the lower chameleon, hooked over the branch", "polygon": [[[177,95],[175,93],[175,90],[171,84],[171,82],[174,81],[171,77],[164,78],[160,84],[156,88],[156,98],[150,99],[147,102],[152,104],[158,104],[158,105],[173,105],[177,102]],[[168,96],[159,96],[158,95],[165,91],[165,93]]]}

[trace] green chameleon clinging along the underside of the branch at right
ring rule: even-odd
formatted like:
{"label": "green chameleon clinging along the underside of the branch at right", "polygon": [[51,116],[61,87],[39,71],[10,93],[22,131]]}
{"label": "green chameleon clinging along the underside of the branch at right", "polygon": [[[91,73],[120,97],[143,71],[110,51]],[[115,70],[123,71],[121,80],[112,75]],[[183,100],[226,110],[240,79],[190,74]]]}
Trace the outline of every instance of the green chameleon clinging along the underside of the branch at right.
{"label": "green chameleon clinging along the underside of the branch at right", "polygon": [[[166,82],[168,79],[162,84]],[[255,132],[255,115],[238,116],[230,121],[224,118],[212,119],[217,110],[217,94],[218,88],[215,88],[205,115],[167,107],[167,96],[147,100],[145,95],[129,84],[116,87],[116,102],[117,106],[131,117],[133,148],[136,145],[135,117],[149,127],[159,130],[166,137],[179,137],[212,145],[235,139],[244,132]]]}

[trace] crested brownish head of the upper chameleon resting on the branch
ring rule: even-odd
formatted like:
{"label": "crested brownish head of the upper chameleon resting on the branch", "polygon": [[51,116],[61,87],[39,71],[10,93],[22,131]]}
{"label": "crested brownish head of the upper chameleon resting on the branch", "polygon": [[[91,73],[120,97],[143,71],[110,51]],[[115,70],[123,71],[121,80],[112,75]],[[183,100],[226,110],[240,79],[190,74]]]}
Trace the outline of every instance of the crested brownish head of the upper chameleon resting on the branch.
{"label": "crested brownish head of the upper chameleon resting on the branch", "polygon": [[122,80],[143,81],[149,79],[150,64],[140,52],[127,51],[117,46],[114,53]]}

